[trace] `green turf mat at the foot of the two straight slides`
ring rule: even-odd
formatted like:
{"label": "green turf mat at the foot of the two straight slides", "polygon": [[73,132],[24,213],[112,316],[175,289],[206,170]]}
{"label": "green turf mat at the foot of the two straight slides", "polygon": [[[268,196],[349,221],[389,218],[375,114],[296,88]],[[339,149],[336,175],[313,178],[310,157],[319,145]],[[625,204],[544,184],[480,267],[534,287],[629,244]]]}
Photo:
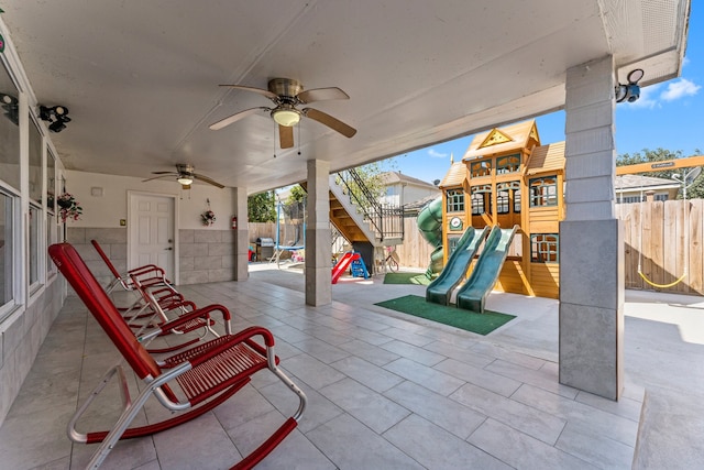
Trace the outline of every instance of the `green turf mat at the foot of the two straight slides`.
{"label": "green turf mat at the foot of the two straight slides", "polygon": [[516,318],[515,315],[499,314],[496,311],[484,310],[483,314],[477,314],[453,306],[432,304],[417,295],[406,295],[374,305],[438,321],[477,335],[488,335],[496,328]]}

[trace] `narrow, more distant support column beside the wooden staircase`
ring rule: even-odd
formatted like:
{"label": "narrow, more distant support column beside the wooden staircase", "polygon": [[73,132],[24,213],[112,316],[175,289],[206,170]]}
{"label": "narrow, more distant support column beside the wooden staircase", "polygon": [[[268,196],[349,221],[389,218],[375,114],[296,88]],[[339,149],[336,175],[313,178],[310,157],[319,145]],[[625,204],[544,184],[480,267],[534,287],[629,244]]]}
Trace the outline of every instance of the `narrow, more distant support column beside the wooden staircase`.
{"label": "narrow, more distant support column beside the wooden staircase", "polygon": [[330,231],[330,164],[308,161],[308,223],[306,226],[306,304],[332,303]]}

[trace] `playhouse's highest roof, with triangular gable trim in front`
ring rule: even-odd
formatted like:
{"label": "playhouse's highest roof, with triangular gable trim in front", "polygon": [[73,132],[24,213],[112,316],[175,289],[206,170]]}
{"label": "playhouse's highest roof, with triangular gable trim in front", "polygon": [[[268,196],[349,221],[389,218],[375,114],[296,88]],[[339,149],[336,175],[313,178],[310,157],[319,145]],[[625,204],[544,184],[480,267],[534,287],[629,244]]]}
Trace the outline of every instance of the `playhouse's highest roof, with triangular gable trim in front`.
{"label": "playhouse's highest roof, with triangular gable trim in front", "polygon": [[536,121],[524,121],[474,135],[463,161],[540,145]]}

